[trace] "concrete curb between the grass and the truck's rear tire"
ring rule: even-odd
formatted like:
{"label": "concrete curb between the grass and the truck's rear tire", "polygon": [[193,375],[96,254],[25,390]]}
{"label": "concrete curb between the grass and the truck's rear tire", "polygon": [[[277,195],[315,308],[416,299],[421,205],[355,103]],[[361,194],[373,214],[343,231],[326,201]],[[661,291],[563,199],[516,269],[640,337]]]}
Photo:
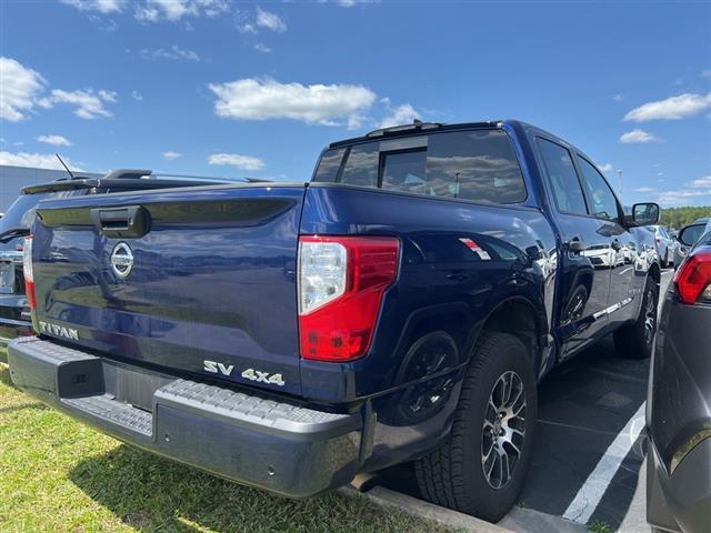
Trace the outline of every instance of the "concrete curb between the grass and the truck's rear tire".
{"label": "concrete curb between the grass and the truck's rear tire", "polygon": [[484,522],[483,520],[475,519],[468,514],[440,507],[439,505],[434,505],[382,486],[374,486],[368,492],[358,492],[356,489],[344,486],[339,489],[338,492],[350,497],[365,497],[382,507],[399,509],[408,514],[431,520],[448,527],[469,533],[513,533],[511,530],[507,530],[495,524],[490,524],[489,522]]}

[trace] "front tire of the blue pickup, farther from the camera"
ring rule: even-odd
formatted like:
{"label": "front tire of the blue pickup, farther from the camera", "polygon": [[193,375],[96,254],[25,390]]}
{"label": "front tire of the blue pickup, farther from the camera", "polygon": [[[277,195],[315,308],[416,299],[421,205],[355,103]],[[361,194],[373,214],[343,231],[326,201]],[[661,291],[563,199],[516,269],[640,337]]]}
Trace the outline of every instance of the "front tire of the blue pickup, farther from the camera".
{"label": "front tire of the blue pickup, farther from the camera", "polygon": [[620,328],[614,332],[614,348],[620,358],[647,359],[652,354],[657,333],[658,305],[659,289],[654,280],[651,276],[647,276],[639,316],[634,323]]}

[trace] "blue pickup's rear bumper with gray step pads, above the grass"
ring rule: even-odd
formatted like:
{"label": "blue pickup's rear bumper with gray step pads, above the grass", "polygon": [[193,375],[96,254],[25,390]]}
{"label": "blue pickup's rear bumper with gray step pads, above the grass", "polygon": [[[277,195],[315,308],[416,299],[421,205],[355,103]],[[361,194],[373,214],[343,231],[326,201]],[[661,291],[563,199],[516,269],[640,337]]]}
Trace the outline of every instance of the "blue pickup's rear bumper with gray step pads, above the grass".
{"label": "blue pickup's rear bumper with gray step pads, above the grass", "polygon": [[[14,384],[104,433],[291,497],[349,483],[360,413],[334,414],[123,365],[38,338],[8,346]],[[139,409],[140,405],[143,409]]]}

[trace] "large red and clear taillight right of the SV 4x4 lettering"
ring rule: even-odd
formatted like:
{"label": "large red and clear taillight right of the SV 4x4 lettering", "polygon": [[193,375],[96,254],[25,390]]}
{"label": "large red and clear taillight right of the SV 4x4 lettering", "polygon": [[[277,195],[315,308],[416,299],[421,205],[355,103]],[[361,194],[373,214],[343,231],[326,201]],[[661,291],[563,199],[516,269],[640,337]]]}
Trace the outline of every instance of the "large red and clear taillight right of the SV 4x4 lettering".
{"label": "large red and clear taillight right of the SV 4x4 lettering", "polygon": [[382,296],[398,275],[399,252],[390,237],[299,240],[302,358],[351,361],[368,353]]}

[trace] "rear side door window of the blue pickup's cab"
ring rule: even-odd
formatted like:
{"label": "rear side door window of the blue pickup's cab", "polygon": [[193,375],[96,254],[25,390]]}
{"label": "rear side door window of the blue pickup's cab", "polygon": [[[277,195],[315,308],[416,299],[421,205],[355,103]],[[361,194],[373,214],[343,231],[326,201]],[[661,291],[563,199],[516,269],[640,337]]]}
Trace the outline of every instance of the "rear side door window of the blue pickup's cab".
{"label": "rear side door window of the blue pickup's cab", "polygon": [[537,139],[548,180],[553,189],[555,205],[564,213],[588,214],[585,198],[578,181],[570,152],[554,142]]}

